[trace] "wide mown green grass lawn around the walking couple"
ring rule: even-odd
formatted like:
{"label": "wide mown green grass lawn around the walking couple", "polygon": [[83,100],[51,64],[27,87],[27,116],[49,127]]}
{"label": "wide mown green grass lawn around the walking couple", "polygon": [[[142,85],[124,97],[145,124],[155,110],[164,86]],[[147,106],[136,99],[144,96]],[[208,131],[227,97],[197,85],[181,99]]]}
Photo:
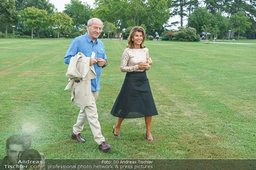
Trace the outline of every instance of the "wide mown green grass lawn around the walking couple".
{"label": "wide mown green grass lawn around the walking couple", "polygon": [[108,55],[97,100],[102,134],[114,148],[100,152],[86,123],[86,143],[70,136],[79,108],[70,99],[64,55],[71,39],[0,39],[0,158],[12,134],[33,136],[45,158],[256,158],[255,45],[146,41],[147,72],[159,115],[148,142],[143,118],[127,119],[121,138],[110,115],[125,73],[127,42],[102,39]]}

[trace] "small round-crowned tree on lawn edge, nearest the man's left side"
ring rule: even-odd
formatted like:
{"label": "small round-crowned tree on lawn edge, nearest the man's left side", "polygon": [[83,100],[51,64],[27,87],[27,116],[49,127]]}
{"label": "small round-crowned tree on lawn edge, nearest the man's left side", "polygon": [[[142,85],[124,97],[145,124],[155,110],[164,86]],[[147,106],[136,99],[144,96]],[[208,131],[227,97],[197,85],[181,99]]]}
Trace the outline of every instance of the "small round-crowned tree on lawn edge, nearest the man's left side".
{"label": "small round-crowned tree on lawn edge, nearest the man's left side", "polygon": [[59,39],[59,31],[70,31],[72,28],[72,18],[69,15],[64,14],[62,12],[55,12],[53,16],[50,18],[50,23],[53,28],[58,30],[58,39]]}

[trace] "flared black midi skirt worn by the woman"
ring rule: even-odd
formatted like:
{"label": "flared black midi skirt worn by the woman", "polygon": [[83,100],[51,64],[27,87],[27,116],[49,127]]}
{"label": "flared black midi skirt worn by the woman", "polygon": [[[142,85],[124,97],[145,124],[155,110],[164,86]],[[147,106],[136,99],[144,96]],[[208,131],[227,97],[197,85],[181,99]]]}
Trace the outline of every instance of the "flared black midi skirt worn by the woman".
{"label": "flared black midi skirt worn by the woman", "polygon": [[146,72],[127,72],[111,115],[138,118],[158,115]]}

